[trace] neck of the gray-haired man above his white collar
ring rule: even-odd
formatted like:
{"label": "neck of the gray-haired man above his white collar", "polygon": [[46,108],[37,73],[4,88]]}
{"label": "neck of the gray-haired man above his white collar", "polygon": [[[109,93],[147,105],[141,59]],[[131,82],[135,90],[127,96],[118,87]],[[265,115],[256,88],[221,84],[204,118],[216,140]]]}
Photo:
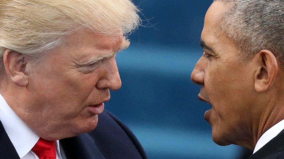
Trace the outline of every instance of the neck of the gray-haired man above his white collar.
{"label": "neck of the gray-haired man above his white collar", "polygon": [[240,123],[239,133],[232,143],[254,150],[260,137],[284,119],[284,89],[277,89],[271,89],[251,101],[246,119]]}

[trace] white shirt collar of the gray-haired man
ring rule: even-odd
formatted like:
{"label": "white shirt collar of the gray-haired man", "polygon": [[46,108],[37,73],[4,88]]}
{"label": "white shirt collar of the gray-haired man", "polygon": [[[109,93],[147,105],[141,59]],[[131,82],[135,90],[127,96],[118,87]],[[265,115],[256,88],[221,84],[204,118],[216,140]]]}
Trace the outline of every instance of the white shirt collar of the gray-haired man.
{"label": "white shirt collar of the gray-haired man", "polygon": [[262,148],[267,142],[272,140],[284,129],[284,120],[281,120],[279,123],[268,129],[258,140],[253,150],[253,153]]}

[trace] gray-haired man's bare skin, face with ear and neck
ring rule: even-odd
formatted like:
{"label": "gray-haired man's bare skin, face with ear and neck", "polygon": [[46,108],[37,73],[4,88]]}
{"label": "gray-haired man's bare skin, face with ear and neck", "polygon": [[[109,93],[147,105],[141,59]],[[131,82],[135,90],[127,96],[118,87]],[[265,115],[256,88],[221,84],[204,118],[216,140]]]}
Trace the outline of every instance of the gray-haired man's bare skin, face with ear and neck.
{"label": "gray-haired man's bare skin, face with ear and neck", "polygon": [[205,119],[218,145],[254,149],[260,136],[284,119],[283,67],[269,50],[244,56],[218,21],[229,2],[215,1],[205,16],[204,53],[191,74],[198,98],[212,105]]}

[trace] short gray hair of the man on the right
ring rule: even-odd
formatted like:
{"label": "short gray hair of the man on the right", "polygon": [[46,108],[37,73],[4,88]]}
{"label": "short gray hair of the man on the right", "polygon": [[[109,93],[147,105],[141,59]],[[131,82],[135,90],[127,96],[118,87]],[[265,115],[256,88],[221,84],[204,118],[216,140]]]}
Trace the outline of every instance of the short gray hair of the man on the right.
{"label": "short gray hair of the man on the right", "polygon": [[283,0],[229,1],[221,18],[221,28],[247,55],[270,50],[284,62]]}

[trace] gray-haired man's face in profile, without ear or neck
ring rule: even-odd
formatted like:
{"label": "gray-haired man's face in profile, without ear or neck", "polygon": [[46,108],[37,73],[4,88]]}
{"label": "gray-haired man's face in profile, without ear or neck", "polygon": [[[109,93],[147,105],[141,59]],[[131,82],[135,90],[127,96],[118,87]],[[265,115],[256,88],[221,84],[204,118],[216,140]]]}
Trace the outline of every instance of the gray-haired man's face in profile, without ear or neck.
{"label": "gray-haired man's face in profile, without ear or neck", "polygon": [[235,144],[249,122],[254,102],[251,64],[241,57],[234,42],[220,28],[219,20],[226,3],[215,1],[205,16],[201,34],[203,56],[196,63],[191,79],[202,85],[198,98],[212,108],[205,119],[212,126],[212,138],[219,145]]}

